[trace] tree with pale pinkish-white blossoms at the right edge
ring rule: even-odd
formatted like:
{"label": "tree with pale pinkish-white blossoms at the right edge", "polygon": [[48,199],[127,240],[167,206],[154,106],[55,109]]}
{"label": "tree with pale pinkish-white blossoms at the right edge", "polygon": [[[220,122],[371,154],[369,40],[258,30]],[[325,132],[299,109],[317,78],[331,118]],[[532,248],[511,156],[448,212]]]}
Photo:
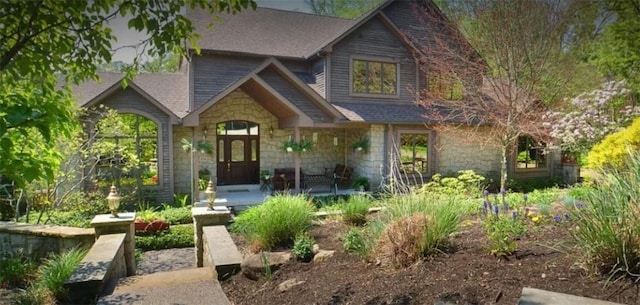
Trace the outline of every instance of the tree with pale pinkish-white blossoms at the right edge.
{"label": "tree with pale pinkish-white blossoms at the right edge", "polygon": [[545,126],[564,151],[586,153],[640,115],[640,106],[630,104],[625,98],[628,93],[625,82],[606,82],[601,89],[572,98],[567,103],[569,109],[549,111],[545,115]]}

